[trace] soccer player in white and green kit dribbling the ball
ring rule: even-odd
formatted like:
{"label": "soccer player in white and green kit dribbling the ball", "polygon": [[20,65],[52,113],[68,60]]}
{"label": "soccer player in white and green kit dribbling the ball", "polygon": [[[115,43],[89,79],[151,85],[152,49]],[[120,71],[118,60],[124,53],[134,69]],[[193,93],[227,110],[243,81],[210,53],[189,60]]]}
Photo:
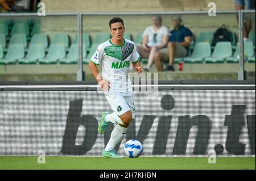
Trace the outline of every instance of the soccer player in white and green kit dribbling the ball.
{"label": "soccer player in white and green kit dribbling the ball", "polygon": [[[128,77],[130,62],[137,73],[142,73],[136,46],[123,39],[125,27],[121,18],[109,21],[112,39],[100,44],[89,61],[89,68],[104,91],[114,113],[103,112],[98,132],[103,134],[109,123],[115,124],[110,140],[102,152],[105,158],[118,158],[115,146],[122,140],[130,121],[134,118],[133,87]],[[102,64],[102,77],[97,65]]]}

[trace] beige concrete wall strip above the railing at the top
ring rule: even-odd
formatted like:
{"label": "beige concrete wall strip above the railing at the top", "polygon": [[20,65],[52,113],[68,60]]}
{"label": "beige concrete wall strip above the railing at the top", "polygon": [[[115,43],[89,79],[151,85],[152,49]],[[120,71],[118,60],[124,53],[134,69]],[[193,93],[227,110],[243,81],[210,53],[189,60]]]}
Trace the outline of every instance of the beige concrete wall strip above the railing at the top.
{"label": "beige concrete wall strip above the railing at the top", "polygon": [[208,10],[209,2],[216,3],[217,10],[233,10],[234,0],[43,0],[46,11],[195,11]]}

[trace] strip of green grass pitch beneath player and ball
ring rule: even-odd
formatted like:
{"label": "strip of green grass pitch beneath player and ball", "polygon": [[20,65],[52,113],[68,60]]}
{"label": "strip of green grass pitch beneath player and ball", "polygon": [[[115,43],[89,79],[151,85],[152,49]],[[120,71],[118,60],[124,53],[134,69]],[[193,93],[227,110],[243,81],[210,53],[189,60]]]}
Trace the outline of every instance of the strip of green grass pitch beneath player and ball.
{"label": "strip of green grass pitch beneath player and ball", "polygon": [[46,163],[38,163],[38,157],[0,157],[0,169],[84,169],[84,170],[255,170],[255,157],[217,157],[209,164],[208,157],[53,157],[46,156]]}

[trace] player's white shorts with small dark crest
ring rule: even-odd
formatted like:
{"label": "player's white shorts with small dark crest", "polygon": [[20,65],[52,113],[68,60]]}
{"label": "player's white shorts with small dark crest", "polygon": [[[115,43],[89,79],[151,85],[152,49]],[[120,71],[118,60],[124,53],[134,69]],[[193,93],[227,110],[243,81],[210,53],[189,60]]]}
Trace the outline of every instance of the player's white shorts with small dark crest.
{"label": "player's white shorts with small dark crest", "polygon": [[133,119],[135,118],[135,107],[133,93],[127,94],[122,92],[108,92],[105,93],[112,110],[121,116],[127,111],[131,111]]}

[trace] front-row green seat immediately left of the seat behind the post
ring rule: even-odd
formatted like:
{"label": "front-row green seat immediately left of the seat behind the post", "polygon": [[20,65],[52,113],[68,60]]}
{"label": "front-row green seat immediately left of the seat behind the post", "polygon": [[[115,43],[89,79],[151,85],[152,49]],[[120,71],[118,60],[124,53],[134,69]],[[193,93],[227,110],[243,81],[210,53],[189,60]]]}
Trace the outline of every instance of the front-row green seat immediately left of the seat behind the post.
{"label": "front-row green seat immediately left of the seat behind the post", "polygon": [[60,58],[66,56],[65,47],[63,44],[53,44],[50,46],[46,58],[40,58],[40,64],[57,64]]}

